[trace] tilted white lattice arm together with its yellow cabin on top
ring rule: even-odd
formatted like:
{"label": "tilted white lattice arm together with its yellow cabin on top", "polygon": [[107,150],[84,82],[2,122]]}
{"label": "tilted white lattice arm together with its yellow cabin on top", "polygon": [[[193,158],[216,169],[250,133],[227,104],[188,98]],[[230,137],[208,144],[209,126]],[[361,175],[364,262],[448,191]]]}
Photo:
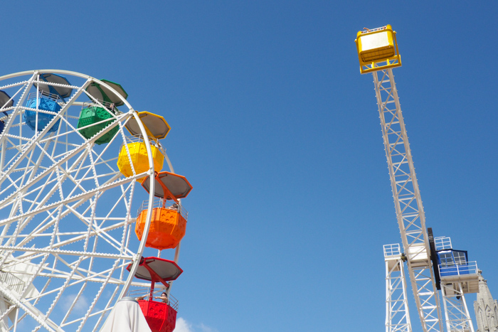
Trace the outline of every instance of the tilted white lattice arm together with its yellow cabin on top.
{"label": "tilted white lattice arm together with its yellow cabin on top", "polygon": [[443,331],[425,214],[392,70],[401,66],[396,32],[389,25],[359,31],[356,48],[360,72],[373,74],[396,218],[418,316],[424,332]]}

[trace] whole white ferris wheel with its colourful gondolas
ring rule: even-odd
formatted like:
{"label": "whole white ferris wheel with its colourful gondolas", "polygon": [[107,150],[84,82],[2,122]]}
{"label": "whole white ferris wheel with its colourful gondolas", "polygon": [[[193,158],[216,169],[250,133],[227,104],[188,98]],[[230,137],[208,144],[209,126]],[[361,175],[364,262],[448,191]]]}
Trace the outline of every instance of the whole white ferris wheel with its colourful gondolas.
{"label": "whole white ferris wheel with its colourful gondolas", "polygon": [[174,330],[192,187],[161,144],[169,124],[127,97],[66,70],[0,77],[0,331],[100,331],[126,296]]}

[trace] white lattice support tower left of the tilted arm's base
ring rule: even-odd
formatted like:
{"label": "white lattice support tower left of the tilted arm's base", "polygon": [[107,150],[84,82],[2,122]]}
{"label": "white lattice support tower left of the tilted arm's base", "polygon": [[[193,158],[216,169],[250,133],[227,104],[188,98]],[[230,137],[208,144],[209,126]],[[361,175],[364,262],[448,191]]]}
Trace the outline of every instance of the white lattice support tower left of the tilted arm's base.
{"label": "white lattice support tower left of the tilted arm's base", "polygon": [[398,243],[384,245],[386,262],[386,332],[411,332],[406,279]]}

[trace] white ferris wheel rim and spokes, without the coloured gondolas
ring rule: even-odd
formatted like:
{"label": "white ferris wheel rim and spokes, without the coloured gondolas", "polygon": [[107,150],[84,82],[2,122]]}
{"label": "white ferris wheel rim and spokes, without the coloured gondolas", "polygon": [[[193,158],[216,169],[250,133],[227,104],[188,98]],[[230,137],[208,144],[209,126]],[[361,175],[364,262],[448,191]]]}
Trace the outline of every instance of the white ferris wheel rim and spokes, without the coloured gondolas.
{"label": "white ferris wheel rim and spokes, without the coloured gondolas", "polygon": [[[46,84],[40,73],[65,76],[73,94],[59,100],[58,114],[31,108],[55,114],[38,132],[24,124],[23,113],[28,94],[38,94],[36,85]],[[15,101],[1,109],[9,116],[0,112],[5,122],[0,135],[0,304],[6,308],[0,321],[10,322],[11,331],[98,331],[132,284],[129,276],[144,251],[152,208],[142,242],[132,223],[137,205],[147,199],[152,205],[154,198],[153,179],[151,194],[135,181],[154,173],[151,143],[137,113],[117,92],[124,105],[115,122],[91,139],[78,132],[83,102],[102,107],[85,92],[91,82],[114,91],[105,82],[65,70],[0,77],[0,90]],[[129,142],[124,124],[130,117],[144,134],[149,170],[124,178],[116,163],[120,146]],[[48,132],[58,121],[58,130]],[[110,143],[95,144],[115,126],[119,130]],[[167,156],[166,161],[170,164]],[[125,269],[130,263],[132,273]]]}

